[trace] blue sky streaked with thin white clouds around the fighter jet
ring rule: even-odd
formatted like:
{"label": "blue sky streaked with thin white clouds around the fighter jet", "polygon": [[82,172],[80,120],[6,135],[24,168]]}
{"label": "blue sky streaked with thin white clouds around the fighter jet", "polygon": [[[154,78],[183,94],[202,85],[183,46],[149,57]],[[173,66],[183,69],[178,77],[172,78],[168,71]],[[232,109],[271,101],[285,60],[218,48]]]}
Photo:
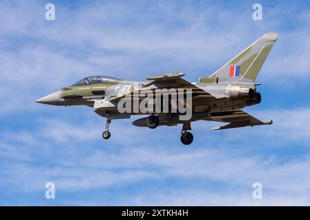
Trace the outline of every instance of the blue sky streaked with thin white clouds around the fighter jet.
{"label": "blue sky streaked with thin white clouds around the fighter jet", "polygon": [[[56,20],[45,20],[54,3]],[[263,20],[253,21],[261,3]],[[0,205],[309,205],[309,1],[1,1]],[[197,82],[266,32],[280,33],[246,109],[271,126],[138,128],[89,107],[37,104],[93,74]],[[56,199],[45,198],[55,182]],[[252,184],[263,185],[255,200]]]}

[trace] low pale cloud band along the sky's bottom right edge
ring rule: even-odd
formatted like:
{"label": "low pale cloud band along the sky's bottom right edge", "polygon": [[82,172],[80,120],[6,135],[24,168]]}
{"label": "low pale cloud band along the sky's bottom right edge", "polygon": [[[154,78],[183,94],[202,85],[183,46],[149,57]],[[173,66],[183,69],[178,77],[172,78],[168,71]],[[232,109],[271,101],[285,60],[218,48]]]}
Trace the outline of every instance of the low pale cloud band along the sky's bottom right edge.
{"label": "low pale cloud band along the sky's bottom right edge", "polygon": [[[235,188],[231,192],[213,192],[210,190],[171,190],[166,192],[157,190],[149,192],[147,196],[137,195],[128,197],[133,206],[307,206],[309,199],[303,192],[264,192],[263,199],[253,199],[253,190]],[[153,198],[150,200],[150,197]],[[126,205],[126,203],[122,203]]]}

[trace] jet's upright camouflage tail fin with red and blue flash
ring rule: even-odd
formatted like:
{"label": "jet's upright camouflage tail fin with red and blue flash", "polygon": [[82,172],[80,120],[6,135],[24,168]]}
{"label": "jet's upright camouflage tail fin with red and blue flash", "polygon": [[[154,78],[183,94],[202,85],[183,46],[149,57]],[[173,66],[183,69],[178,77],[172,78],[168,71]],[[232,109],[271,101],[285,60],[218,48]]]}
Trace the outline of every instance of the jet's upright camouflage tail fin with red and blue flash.
{"label": "jet's upright camouflage tail fin with red and blue flash", "polygon": [[254,82],[273,47],[273,43],[278,39],[278,35],[277,33],[264,34],[209,77],[233,77],[234,81]]}

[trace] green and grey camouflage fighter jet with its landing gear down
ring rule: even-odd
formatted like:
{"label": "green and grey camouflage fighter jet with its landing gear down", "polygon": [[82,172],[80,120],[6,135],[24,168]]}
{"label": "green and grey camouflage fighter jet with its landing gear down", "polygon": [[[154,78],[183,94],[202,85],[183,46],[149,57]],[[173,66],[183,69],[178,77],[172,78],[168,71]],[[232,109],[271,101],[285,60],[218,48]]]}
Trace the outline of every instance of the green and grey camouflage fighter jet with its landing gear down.
{"label": "green and grey camouflage fighter jet with its landing gear down", "polygon": [[[148,115],[148,117],[135,120],[133,124],[148,126],[151,129],[162,125],[183,124],[181,142],[186,145],[193,142],[193,135],[188,131],[191,130],[191,122],[197,120],[227,123],[211,130],[272,124],[272,120],[259,120],[241,109],[261,102],[261,95],[256,91],[260,83],[255,83],[255,78],[277,39],[277,33],[264,34],[211,76],[200,77],[198,83],[189,83],[184,80],[182,73],[152,75],[147,78],[151,81],[90,76],[70,87],[63,87],[61,91],[39,98],[36,102],[59,106],[86,105],[92,107],[95,113],[106,118],[106,129],[102,133],[104,139],[110,137],[108,128],[111,120],[130,118],[131,115]],[[148,112],[128,113],[119,112],[117,108],[117,104],[126,98],[126,95],[133,95],[129,97],[134,98],[136,91],[163,89],[162,93],[164,93],[166,91],[164,89],[171,88],[189,89],[186,91],[191,92],[191,105],[184,105],[191,111],[191,118],[188,120],[180,120],[180,115],[182,115],[180,111],[164,113],[151,109]],[[170,100],[162,104],[171,106],[172,97],[170,96]],[[139,102],[141,102],[140,99]]]}

